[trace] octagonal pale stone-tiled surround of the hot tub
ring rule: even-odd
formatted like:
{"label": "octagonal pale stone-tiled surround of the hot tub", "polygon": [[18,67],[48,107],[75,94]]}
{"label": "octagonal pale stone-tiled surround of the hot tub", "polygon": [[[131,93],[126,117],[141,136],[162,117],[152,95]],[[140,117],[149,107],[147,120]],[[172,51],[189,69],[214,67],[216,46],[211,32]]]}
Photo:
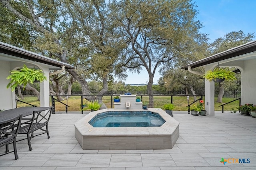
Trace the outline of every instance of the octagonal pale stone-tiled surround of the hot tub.
{"label": "octagonal pale stone-tiled surround of the hot tub", "polygon": [[[92,127],[88,122],[96,114],[123,109],[93,111],[74,124],[75,137],[82,149],[128,150],[128,149],[172,149],[179,137],[179,124],[162,109],[149,108],[166,122],[160,127]],[[143,109],[129,111],[144,111]]]}

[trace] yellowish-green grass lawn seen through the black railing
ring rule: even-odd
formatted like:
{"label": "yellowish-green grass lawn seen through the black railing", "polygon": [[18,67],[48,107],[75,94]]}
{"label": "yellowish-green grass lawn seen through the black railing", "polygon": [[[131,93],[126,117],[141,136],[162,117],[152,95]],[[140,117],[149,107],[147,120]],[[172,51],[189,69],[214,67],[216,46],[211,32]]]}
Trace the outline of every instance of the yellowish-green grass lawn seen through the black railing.
{"label": "yellowish-green grass lawn seen through the black railing", "polygon": [[[197,97],[197,99],[200,98],[199,96]],[[148,96],[143,96],[142,97],[143,102],[147,102],[149,101],[149,97]],[[111,97],[110,96],[103,96],[102,98],[104,104],[106,104],[106,106],[108,108],[111,108]],[[215,101],[217,100],[217,98],[215,98]],[[234,100],[234,98],[222,98],[222,102],[227,103]],[[35,106],[40,106],[40,102],[37,101],[36,97],[25,97],[24,100],[21,100],[23,102],[29,103],[29,104],[33,104]],[[154,108],[161,108],[164,109],[164,104],[170,103],[171,101],[171,96],[154,96]],[[176,106],[174,108],[174,110],[177,111],[187,111],[188,110],[188,101],[186,96],[173,96],[173,104],[174,106]],[[190,97],[189,99],[189,104],[191,104],[193,102],[193,97]],[[68,103],[68,111],[80,111],[80,105],[81,105],[81,97],[80,96],[70,96],[70,98],[68,98],[68,101],[62,100],[62,103],[66,104]],[[83,99],[83,104],[87,104],[88,101],[86,101],[85,99]],[[197,103],[196,103],[197,104]],[[50,104],[51,105],[51,104]],[[56,111],[65,111],[65,105],[61,104],[60,102],[55,102],[55,108]],[[113,102],[114,105],[114,102]],[[215,102],[214,107],[215,110],[221,110],[222,107],[218,107],[222,105],[221,103],[217,103]],[[27,104],[24,104],[22,102],[18,102],[17,103],[17,107],[26,107],[29,106]],[[230,104],[227,104],[224,106],[224,110],[229,111],[232,110],[232,108],[236,109],[236,107],[239,106],[239,100],[232,102]],[[114,107],[114,106],[113,106]],[[84,110],[90,110],[87,107],[84,108]],[[237,109],[236,109],[237,110]]]}

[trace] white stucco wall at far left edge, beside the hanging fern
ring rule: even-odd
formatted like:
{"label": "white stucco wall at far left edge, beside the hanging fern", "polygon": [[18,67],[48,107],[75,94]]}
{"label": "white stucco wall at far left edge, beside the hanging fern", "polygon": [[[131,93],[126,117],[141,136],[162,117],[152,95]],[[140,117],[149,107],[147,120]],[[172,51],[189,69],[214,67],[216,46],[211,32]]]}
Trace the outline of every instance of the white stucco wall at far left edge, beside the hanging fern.
{"label": "white stucco wall at far left edge, beside the hanging fern", "polygon": [[7,80],[6,77],[10,74],[10,62],[1,61],[0,62],[0,109],[8,110],[12,109],[12,91],[10,88],[6,88],[10,80]]}

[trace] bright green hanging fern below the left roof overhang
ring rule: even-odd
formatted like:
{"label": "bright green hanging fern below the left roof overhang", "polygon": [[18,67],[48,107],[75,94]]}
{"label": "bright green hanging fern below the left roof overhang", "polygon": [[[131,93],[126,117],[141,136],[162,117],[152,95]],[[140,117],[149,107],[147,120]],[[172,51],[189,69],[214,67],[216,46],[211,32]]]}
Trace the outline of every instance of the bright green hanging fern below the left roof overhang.
{"label": "bright green hanging fern below the left roof overhang", "polygon": [[25,86],[30,82],[33,83],[35,81],[42,82],[47,80],[44,72],[35,68],[28,68],[25,64],[22,68],[18,68],[18,70],[10,71],[10,75],[7,79],[11,79],[11,81],[7,84],[7,88],[11,88],[12,92],[18,85]]}

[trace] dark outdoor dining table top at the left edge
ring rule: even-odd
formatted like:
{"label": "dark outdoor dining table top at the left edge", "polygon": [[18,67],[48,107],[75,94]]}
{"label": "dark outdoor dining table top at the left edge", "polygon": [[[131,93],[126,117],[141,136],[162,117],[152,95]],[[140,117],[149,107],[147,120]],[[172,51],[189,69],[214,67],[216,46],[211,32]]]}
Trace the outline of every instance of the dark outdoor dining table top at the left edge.
{"label": "dark outdoor dining table top at the left edge", "polygon": [[26,117],[33,114],[33,111],[41,111],[49,109],[50,107],[18,107],[15,109],[9,109],[0,111],[0,124],[1,122],[8,121],[18,115],[22,114],[22,117]]}

